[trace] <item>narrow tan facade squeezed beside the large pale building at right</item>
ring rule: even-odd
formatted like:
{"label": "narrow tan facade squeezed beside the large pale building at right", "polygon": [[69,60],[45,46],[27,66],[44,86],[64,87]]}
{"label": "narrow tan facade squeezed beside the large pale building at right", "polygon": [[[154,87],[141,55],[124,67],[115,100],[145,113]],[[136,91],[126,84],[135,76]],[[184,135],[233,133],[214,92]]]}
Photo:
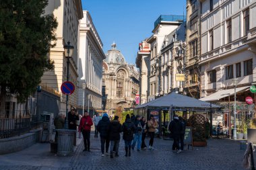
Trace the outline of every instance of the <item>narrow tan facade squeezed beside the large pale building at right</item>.
{"label": "narrow tan facade squeezed beside the large pale building at right", "polygon": [[186,30],[186,61],[185,61],[185,91],[187,95],[200,98],[201,69],[199,56],[201,53],[201,7],[199,0],[187,0],[187,30]]}

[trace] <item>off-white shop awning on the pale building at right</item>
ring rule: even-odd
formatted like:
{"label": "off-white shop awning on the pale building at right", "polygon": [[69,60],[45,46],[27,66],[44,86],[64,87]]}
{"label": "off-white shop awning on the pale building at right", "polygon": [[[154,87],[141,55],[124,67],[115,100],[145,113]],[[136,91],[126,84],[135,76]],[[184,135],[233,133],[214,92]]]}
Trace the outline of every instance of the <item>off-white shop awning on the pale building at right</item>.
{"label": "off-white shop awning on the pale building at right", "polygon": [[[249,89],[249,88],[250,88],[250,86],[238,87],[238,88],[236,88],[236,93],[245,91],[246,89]],[[220,90],[220,91],[217,91],[216,93],[212,93],[211,95],[207,95],[206,97],[203,97],[199,100],[201,100],[201,101],[218,101],[219,99],[228,97],[230,95],[234,95],[234,89]]]}

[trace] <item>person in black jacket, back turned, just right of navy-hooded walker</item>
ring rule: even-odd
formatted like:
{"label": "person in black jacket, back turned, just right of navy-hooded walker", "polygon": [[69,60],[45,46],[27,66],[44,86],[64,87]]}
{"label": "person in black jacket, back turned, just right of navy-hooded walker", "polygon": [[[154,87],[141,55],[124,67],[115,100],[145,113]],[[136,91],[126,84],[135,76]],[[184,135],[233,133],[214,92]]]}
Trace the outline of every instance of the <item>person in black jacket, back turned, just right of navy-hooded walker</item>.
{"label": "person in black jacket, back turned, just right of navy-hooded walker", "polygon": [[122,132],[122,125],[119,122],[119,116],[115,116],[114,120],[109,125],[109,140],[110,140],[110,158],[113,157],[113,151],[115,151],[115,157],[119,157],[119,142],[120,133]]}

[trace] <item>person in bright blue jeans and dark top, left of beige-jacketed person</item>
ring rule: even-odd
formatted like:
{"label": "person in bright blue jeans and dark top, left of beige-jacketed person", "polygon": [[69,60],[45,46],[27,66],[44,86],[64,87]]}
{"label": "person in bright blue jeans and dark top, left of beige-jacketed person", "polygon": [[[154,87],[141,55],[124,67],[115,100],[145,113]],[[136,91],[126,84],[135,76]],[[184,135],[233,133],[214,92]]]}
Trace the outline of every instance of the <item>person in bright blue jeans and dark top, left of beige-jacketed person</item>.
{"label": "person in bright blue jeans and dark top, left of beige-jacketed person", "polygon": [[140,116],[137,115],[136,119],[134,121],[134,125],[135,125],[135,132],[134,132],[134,137],[133,137],[133,144],[132,144],[132,149],[134,150],[135,148],[135,144],[137,142],[137,151],[140,151],[140,147],[141,147],[141,138],[142,138],[142,126],[140,124]]}

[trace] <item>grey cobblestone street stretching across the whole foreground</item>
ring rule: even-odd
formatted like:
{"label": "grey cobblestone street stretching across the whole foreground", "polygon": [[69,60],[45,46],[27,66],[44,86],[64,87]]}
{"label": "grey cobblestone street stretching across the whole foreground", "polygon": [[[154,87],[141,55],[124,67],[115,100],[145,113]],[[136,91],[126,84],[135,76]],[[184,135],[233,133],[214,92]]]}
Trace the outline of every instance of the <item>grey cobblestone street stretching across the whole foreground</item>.
{"label": "grey cobblestone street stretching across the whole foreground", "polygon": [[[20,151],[0,156],[0,169],[207,169],[207,170],[242,170],[243,154],[238,141],[212,139],[206,147],[194,147],[189,151],[172,153],[171,140],[156,139],[154,151],[132,151],[131,157],[125,157],[124,142],[121,140],[119,157],[110,159],[101,157],[100,138],[91,136],[91,152],[83,152],[84,143],[77,146],[73,157],[57,157],[46,151],[44,157],[33,154],[40,144],[31,146],[27,151]],[[146,139],[148,144],[148,139]],[[47,144],[43,144],[47,146]],[[33,148],[34,147],[34,148]],[[187,149],[187,147],[186,147]],[[20,155],[20,158],[17,158]]]}

